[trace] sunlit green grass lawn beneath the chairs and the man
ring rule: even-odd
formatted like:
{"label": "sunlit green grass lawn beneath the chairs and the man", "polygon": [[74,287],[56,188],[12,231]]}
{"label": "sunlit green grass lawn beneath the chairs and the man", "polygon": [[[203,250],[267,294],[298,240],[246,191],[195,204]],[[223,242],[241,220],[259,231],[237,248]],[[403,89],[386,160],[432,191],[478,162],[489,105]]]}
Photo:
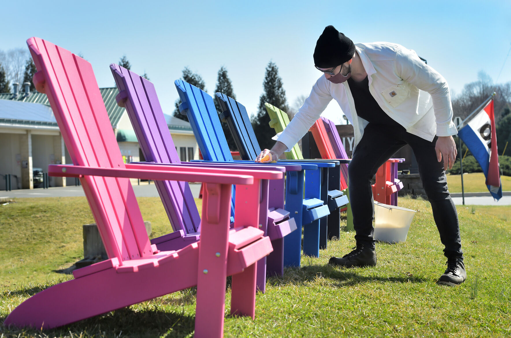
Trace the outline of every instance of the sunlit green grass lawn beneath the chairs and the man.
{"label": "sunlit green grass lawn beneath the chairs and the man", "polygon": [[[152,236],[168,232],[159,199],[138,200]],[[268,279],[254,321],[228,316],[227,292],[225,336],[511,335],[511,206],[458,207],[468,280],[446,287],[435,284],[446,259],[429,203],[400,198],[400,205],[417,210],[408,239],[378,243],[376,267],[330,267],[330,256],[354,245],[354,233],[341,232],[319,258],[303,256],[301,269]],[[84,198],[0,206],[0,321],[29,296],[72,278],[53,271],[82,258],[81,225],[91,222]],[[194,319],[192,288],[50,331],[0,326],[0,336],[185,337],[193,335]]]}

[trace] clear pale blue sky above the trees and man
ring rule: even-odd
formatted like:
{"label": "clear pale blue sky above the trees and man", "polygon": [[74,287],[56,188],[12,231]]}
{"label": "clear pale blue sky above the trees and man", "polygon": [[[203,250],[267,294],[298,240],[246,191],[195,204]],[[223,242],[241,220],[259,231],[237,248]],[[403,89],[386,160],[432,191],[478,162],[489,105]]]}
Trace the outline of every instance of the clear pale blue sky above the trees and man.
{"label": "clear pale blue sky above the trees and man", "polygon": [[[508,0],[9,1],[2,12],[1,50],[25,48],[32,36],[49,40],[81,53],[100,87],[114,86],[108,65],[126,55],[133,71],[147,72],[168,114],[178,98],[174,80],[185,66],[202,76],[210,94],[225,66],[238,101],[255,113],[272,60],[292,104],[321,76],[312,54],[328,25],[355,43],[388,41],[415,50],[454,93],[476,81],[480,70],[495,81],[511,47]],[[511,56],[498,80],[508,81]],[[335,104],[326,113],[342,120]]]}

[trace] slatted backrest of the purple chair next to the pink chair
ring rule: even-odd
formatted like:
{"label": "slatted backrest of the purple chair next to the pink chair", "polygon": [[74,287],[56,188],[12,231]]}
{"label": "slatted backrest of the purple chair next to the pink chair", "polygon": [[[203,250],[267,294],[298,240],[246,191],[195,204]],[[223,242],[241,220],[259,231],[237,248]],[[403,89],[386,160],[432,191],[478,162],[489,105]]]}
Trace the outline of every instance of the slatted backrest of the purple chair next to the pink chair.
{"label": "slatted backrest of the purple chair next to the pink chair", "polygon": [[[110,69],[119,91],[127,95],[123,103],[146,161],[181,163],[154,85],[119,65],[111,64]],[[200,216],[188,182],[155,183],[174,231],[199,231]]]}

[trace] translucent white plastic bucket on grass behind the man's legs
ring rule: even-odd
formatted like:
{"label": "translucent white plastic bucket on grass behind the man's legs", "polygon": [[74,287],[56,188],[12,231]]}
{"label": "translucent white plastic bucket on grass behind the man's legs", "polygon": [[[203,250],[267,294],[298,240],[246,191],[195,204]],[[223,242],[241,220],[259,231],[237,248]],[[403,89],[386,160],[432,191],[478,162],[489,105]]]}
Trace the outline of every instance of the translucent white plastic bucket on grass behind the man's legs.
{"label": "translucent white plastic bucket on grass behind the man's legs", "polygon": [[415,210],[375,201],[375,234],[381,242],[405,242]]}

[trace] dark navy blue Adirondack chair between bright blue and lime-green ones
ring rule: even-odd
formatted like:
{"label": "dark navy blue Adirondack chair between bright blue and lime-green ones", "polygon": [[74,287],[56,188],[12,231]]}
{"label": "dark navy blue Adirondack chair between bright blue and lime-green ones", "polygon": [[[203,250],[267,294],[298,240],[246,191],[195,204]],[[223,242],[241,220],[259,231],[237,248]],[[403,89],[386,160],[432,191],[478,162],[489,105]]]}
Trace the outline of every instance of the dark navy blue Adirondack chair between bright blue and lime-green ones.
{"label": "dark navy blue Adirondack chair between bright blue and lime-green ones", "polygon": [[[227,123],[231,134],[233,134],[241,158],[244,160],[254,160],[261,153],[261,147],[255,137],[245,106],[223,93],[218,92],[216,96],[222,110],[220,119]],[[309,160],[292,161],[297,163],[310,162]],[[318,160],[313,161],[318,162]],[[319,161],[322,162],[321,160]],[[321,167],[321,200],[323,204],[329,206],[330,214],[328,218],[320,220],[319,249],[327,248],[327,239],[332,237],[329,236],[329,232],[332,232],[331,229],[337,229],[336,236],[337,238],[339,237],[340,208],[347,202],[347,197],[343,196],[343,193],[340,191],[341,166],[339,162],[326,162],[333,162],[336,166],[329,167],[324,165]],[[281,160],[278,163],[281,163]]]}

